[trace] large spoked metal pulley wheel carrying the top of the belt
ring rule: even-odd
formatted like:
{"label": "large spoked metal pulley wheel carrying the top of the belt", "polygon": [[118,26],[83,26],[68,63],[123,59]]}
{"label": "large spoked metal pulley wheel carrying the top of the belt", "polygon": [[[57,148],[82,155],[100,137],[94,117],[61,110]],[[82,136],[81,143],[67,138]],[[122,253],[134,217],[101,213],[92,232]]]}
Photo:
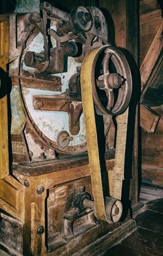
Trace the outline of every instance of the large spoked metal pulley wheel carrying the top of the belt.
{"label": "large spoked metal pulley wheel carrying the top of the belt", "polygon": [[97,113],[119,115],[132,94],[132,76],[127,59],[111,46],[102,46],[92,62],[92,94]]}

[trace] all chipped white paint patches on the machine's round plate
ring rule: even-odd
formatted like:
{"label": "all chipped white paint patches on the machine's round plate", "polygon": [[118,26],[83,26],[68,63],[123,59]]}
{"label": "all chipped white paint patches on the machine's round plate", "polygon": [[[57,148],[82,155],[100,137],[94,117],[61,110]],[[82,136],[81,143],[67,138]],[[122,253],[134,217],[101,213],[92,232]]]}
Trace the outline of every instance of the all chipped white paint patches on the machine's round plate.
{"label": "all chipped white paint patches on the machine's round plate", "polygon": [[[55,29],[55,26],[52,26]],[[55,47],[56,42],[52,39],[53,47]],[[36,35],[33,41],[28,45],[25,51],[34,51],[40,53],[44,50],[44,39],[42,34]],[[62,83],[62,93],[68,89],[68,81],[71,75],[76,73],[76,67],[80,67],[81,63],[76,62],[72,57],[68,57],[68,67],[67,72],[55,74],[61,78]],[[29,72],[36,72],[36,69],[27,67],[23,63],[23,69]],[[24,88],[23,94],[25,96],[25,104],[27,105],[28,111],[39,127],[41,132],[47,136],[52,141],[56,142],[57,135],[59,132],[65,130],[70,134],[68,128],[68,113],[59,111],[46,111],[46,110],[35,110],[33,108],[33,96],[34,95],[57,95],[60,94],[58,91],[43,91],[39,89]],[[85,138],[85,128],[84,128],[84,116],[81,114],[80,117],[80,131],[78,135],[72,135],[73,140],[70,142],[69,146],[77,146],[86,141]]]}

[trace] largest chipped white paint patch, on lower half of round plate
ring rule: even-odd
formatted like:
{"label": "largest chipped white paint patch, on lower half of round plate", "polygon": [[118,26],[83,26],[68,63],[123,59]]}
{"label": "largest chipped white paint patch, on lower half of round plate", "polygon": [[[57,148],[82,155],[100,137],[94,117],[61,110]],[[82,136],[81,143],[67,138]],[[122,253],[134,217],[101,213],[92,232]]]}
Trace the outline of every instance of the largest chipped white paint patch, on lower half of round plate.
{"label": "largest chipped white paint patch, on lower half of round plate", "polygon": [[[54,95],[52,91],[43,91],[38,89],[23,89],[25,95],[25,102],[28,105],[28,111],[33,118],[33,121],[39,127],[41,132],[47,136],[50,140],[56,141],[57,135],[60,131],[67,131],[70,134],[68,128],[68,113],[60,111],[46,111],[46,110],[35,110],[33,108],[33,95]],[[58,92],[56,94],[59,94]],[[46,94],[47,95],[47,94]],[[78,135],[73,136],[73,140],[69,146],[76,146],[85,141],[84,132],[84,117],[81,114],[80,118],[80,131]]]}

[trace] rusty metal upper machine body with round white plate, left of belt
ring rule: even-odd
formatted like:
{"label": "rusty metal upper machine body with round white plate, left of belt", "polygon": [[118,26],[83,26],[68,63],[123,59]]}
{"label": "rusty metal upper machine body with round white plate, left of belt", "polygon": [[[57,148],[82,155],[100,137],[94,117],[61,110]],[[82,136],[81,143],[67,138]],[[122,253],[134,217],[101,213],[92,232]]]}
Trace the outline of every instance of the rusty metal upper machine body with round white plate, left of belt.
{"label": "rusty metal upper machine body with round white plate, left of belt", "polygon": [[[97,22],[101,23],[97,25],[103,28],[100,30],[95,26],[92,28],[90,12],[84,7],[68,15],[46,4],[42,7],[43,20],[36,12],[20,17],[17,29],[25,48],[21,44],[18,74],[15,61],[11,64],[11,75],[20,76],[20,90],[28,116],[24,133],[31,155],[27,157],[31,160],[39,159],[40,154],[44,154],[46,159],[54,159],[55,151],[68,154],[86,151],[79,71],[84,55],[93,45],[101,45],[102,39],[106,40],[104,32],[107,31],[103,15],[95,7],[90,10],[95,12],[92,17],[97,17]],[[49,15],[48,18],[46,15]],[[90,21],[83,21],[80,15],[88,15]],[[50,38],[47,37],[48,25]],[[22,31],[23,26],[28,31]],[[37,142],[33,138],[33,130],[39,135]]]}

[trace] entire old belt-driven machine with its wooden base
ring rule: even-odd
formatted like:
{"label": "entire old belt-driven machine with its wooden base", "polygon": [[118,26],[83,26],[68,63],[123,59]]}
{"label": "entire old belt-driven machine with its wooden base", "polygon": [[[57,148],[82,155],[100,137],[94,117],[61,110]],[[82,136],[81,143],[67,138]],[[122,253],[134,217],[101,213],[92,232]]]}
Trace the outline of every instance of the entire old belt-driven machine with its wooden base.
{"label": "entire old belt-driven machine with its wooden base", "polygon": [[1,248],[98,255],[135,227],[122,200],[127,59],[97,7],[48,2],[1,16],[0,58]]}

